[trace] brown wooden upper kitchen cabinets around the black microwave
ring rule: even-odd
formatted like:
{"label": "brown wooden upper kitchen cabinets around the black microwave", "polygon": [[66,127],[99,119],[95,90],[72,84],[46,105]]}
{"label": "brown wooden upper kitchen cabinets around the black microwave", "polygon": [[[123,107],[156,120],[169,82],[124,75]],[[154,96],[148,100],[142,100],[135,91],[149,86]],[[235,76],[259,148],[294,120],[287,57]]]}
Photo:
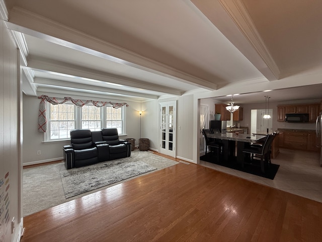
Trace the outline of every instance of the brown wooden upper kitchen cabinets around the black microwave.
{"label": "brown wooden upper kitchen cabinets around the black microwave", "polygon": [[285,122],[286,113],[308,113],[309,123],[315,123],[316,117],[319,113],[320,104],[310,103],[310,104],[287,104],[277,106],[277,121]]}

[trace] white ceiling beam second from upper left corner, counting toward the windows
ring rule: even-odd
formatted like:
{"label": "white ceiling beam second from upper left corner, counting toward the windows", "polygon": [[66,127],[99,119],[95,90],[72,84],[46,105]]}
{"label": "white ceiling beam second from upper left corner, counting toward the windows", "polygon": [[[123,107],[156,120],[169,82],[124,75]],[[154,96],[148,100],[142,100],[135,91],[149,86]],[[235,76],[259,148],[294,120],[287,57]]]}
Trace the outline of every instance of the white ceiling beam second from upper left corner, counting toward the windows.
{"label": "white ceiling beam second from upper left corner, counting toward the windows", "polygon": [[53,62],[48,59],[35,59],[30,58],[28,60],[28,68],[40,71],[40,72],[53,72],[66,74],[73,77],[87,78],[92,80],[99,80],[102,82],[116,83],[127,87],[145,89],[155,92],[168,93],[172,95],[182,95],[182,90],[170,89],[164,86],[150,84],[143,81],[139,81],[132,78],[126,78],[110,73],[105,73],[89,68],[78,67],[67,63]]}

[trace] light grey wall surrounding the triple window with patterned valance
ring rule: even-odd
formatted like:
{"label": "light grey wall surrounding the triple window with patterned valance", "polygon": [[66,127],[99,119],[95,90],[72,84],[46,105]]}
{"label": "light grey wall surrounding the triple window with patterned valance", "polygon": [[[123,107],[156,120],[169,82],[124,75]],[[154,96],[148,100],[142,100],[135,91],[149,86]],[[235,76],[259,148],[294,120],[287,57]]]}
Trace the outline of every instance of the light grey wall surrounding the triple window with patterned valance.
{"label": "light grey wall surrounding the triple window with patterned valance", "polygon": [[[48,94],[48,96],[63,97],[61,95]],[[73,97],[73,96],[72,96]],[[73,98],[82,98],[85,97],[73,97]],[[89,98],[94,100],[93,97]],[[100,100],[100,99],[95,99]],[[114,100],[107,98],[106,100],[112,102],[120,102],[120,100]],[[105,101],[106,101],[105,100]],[[141,109],[141,103],[139,102],[129,102],[121,101],[129,104],[126,107],[126,136],[120,136],[120,139],[134,138],[136,139],[136,144],[138,144],[139,138],[139,114],[138,111]],[[36,164],[42,162],[49,162],[62,159],[63,151],[62,147],[64,145],[70,144],[69,141],[55,141],[55,142],[46,142],[44,143],[44,134],[38,132],[38,110],[40,99],[35,96],[23,95],[23,157],[24,165]],[[37,151],[40,150],[41,154],[37,155]]]}

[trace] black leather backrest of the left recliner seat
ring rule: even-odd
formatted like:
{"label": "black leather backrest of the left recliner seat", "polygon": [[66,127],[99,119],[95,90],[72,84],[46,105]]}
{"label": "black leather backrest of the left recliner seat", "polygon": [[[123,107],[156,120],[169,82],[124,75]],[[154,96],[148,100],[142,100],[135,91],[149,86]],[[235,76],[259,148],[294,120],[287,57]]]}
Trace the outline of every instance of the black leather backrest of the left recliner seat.
{"label": "black leather backrest of the left recliner seat", "polygon": [[93,147],[91,130],[70,131],[70,144],[74,150],[90,149]]}

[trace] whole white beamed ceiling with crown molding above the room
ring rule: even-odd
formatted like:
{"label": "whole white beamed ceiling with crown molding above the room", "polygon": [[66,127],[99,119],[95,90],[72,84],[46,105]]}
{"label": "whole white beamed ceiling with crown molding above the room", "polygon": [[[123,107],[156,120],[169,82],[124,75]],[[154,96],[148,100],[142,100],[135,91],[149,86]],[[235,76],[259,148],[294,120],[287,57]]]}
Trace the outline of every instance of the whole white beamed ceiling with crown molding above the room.
{"label": "whole white beamed ceiling with crown molding above the room", "polygon": [[[4,1],[4,0],[1,0]],[[322,1],[5,0],[27,95],[322,98]],[[236,97],[237,98],[237,97]]]}

